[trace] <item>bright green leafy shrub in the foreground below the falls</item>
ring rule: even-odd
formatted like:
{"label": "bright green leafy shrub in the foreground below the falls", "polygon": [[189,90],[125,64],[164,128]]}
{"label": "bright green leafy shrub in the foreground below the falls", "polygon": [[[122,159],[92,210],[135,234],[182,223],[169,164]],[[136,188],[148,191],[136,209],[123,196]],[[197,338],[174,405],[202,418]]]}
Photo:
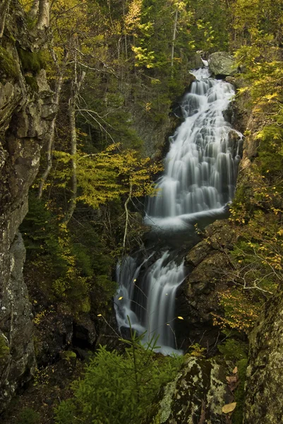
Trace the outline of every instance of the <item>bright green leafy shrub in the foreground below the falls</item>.
{"label": "bright green leafy shrub in the foreground below the falls", "polygon": [[74,396],[56,408],[56,424],[136,424],[147,413],[157,391],[176,376],[182,357],[157,356],[156,341],[141,346],[132,333],[125,354],[100,346],[73,384]]}

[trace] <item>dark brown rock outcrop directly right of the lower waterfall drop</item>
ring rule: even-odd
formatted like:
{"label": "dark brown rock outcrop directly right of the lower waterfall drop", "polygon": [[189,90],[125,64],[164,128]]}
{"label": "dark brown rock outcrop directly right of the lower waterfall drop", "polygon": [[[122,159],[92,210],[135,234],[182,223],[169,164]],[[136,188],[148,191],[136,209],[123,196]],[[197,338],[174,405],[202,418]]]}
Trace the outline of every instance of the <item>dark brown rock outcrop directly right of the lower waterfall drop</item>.
{"label": "dark brown rock outcrop directly right of the lower waterfall drop", "polygon": [[176,300],[176,310],[185,322],[175,324],[177,339],[185,351],[190,343],[200,343],[211,353],[219,337],[212,312],[220,313],[219,293],[227,289],[222,272],[229,267],[226,252],[233,249],[234,240],[229,221],[218,220],[205,228],[205,239],[186,256],[190,272]]}

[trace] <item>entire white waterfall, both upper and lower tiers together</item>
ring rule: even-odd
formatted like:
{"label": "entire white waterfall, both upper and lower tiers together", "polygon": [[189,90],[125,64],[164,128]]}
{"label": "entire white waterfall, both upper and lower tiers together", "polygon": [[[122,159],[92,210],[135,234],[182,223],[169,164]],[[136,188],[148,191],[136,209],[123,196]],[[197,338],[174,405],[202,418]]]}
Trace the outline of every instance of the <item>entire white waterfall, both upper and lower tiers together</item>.
{"label": "entire white waterfall, both upper and lower tiers together", "polygon": [[[224,213],[234,196],[241,159],[242,135],[231,129],[223,114],[234,95],[233,86],[210,78],[207,67],[192,73],[196,81],[180,102],[184,122],[170,138],[157,196],[147,199],[145,223],[165,239],[188,232],[200,218]],[[139,334],[146,331],[145,341],[158,336],[158,351],[164,354],[181,353],[174,333],[175,299],[186,267],[176,257],[176,250],[168,247],[152,252],[141,263],[126,257],[116,269],[119,329],[129,327],[130,320]]]}

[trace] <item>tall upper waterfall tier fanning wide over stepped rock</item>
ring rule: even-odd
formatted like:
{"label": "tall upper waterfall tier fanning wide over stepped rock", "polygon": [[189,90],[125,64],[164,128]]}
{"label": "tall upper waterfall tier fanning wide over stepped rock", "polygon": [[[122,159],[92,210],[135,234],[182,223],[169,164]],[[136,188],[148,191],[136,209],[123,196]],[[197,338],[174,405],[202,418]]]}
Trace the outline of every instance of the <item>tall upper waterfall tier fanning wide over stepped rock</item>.
{"label": "tall upper waterfall tier fanning wide over stepped rock", "polygon": [[145,222],[161,228],[184,224],[195,214],[221,212],[234,195],[239,146],[229,138],[231,125],[222,113],[234,88],[210,78],[207,67],[192,73],[198,81],[180,104],[185,120],[171,137],[159,193],[147,202]]}

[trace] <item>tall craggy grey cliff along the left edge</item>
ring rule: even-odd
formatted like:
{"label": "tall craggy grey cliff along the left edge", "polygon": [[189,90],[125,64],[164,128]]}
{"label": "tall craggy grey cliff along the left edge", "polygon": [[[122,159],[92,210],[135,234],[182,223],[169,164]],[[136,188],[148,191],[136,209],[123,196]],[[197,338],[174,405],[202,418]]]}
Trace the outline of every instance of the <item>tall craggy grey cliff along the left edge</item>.
{"label": "tall craggy grey cliff along the left edge", "polygon": [[44,32],[30,38],[28,33],[12,2],[0,39],[0,411],[35,369],[32,315],[23,281],[25,247],[18,227],[28,211],[28,189],[54,113],[45,71],[28,79],[19,59],[19,50],[35,54],[44,43]]}

